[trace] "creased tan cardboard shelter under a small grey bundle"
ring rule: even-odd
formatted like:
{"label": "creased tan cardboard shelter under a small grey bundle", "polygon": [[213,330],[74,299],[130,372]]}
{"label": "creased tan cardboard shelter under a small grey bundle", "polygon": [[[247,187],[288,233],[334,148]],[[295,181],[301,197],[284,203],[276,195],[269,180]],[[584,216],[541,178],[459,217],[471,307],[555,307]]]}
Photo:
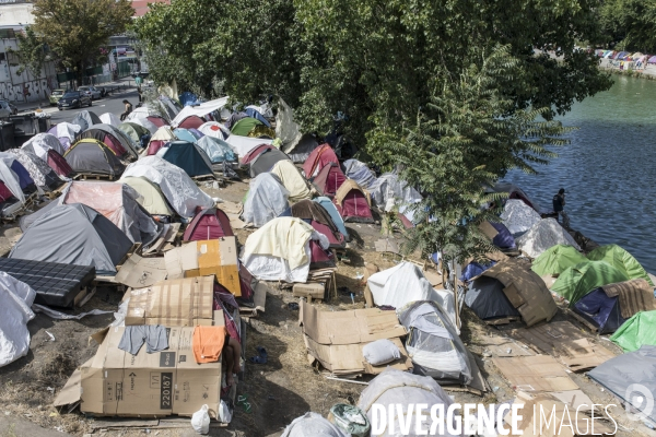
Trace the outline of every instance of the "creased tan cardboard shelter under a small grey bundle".
{"label": "creased tan cardboard shelter under a small grey bundle", "polygon": [[[319,311],[312,305],[301,305],[300,322],[312,357],[335,375],[379,374],[387,366],[400,370],[412,368],[412,362],[400,342],[406,335],[395,311],[377,308],[350,311]],[[401,358],[384,366],[366,363],[362,347],[376,340],[389,339],[401,352]]]}

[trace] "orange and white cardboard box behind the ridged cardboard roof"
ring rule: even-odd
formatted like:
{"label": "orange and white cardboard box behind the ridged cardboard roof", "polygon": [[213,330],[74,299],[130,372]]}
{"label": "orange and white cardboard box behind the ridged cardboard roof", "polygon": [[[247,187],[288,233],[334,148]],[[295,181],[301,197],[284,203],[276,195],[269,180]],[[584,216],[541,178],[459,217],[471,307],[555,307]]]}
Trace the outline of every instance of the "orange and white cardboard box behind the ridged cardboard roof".
{"label": "orange and white cardboard box behind the ridged cardboard roof", "polygon": [[237,238],[191,241],[164,253],[168,279],[215,275],[235,296],[242,296]]}

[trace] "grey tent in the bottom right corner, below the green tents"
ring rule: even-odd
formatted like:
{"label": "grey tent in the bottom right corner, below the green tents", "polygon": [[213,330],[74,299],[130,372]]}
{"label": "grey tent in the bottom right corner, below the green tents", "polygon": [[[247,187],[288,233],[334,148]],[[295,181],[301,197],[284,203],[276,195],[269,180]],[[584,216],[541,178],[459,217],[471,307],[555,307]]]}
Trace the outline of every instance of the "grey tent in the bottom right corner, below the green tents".
{"label": "grey tent in the bottom right corner, below the green tents", "polygon": [[618,355],[587,375],[656,423],[656,409],[653,402],[649,405],[656,393],[656,346],[643,345],[635,352]]}

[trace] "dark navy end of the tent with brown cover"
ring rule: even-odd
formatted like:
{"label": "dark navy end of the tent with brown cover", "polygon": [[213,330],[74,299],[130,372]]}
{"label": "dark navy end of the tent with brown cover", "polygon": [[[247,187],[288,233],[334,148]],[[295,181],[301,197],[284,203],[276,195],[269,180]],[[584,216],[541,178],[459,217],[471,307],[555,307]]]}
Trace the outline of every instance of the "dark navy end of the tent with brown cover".
{"label": "dark navy end of the tent with brown cover", "polygon": [[469,283],[465,304],[482,320],[520,317],[522,315],[503,293],[501,281],[480,276]]}

